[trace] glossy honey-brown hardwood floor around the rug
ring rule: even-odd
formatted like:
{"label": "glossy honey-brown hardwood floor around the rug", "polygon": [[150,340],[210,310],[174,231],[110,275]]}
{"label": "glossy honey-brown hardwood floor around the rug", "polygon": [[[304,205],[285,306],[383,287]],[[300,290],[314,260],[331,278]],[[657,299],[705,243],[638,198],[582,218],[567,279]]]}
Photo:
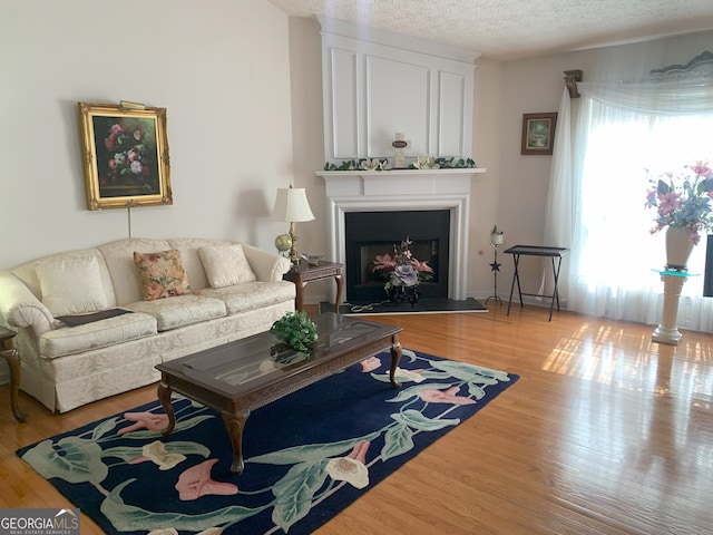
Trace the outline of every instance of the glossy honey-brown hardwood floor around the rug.
{"label": "glossy honey-brown hardwood floor around the rug", "polygon": [[[713,533],[713,337],[548,309],[373,315],[401,342],[520,380],[316,533]],[[313,311],[311,311],[313,312]],[[51,415],[0,387],[0,507],[70,506],[14,449],[133,408],[146,387]],[[101,533],[82,516],[82,534]]]}

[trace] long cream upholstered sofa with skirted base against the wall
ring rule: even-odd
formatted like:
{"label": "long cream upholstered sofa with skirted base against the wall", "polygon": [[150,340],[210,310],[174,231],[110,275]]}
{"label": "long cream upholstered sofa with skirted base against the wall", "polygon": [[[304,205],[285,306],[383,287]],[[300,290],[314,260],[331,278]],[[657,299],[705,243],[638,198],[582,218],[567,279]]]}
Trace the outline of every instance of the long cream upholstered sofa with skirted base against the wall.
{"label": "long cream upholstered sofa with skirted base against the wall", "polygon": [[[146,300],[134,253],[173,250],[189,293]],[[155,382],[159,362],[267,331],[294,311],[289,269],[245,244],[127,239],[0,272],[0,322],[18,332],[20,388],[65,412]],[[66,323],[101,311],[121,315]]]}

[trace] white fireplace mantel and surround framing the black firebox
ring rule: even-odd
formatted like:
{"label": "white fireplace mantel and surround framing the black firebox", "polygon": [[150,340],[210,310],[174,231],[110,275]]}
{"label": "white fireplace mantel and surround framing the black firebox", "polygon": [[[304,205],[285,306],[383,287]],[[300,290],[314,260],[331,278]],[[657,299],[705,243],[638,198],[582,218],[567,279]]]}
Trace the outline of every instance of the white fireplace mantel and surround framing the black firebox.
{"label": "white fireplace mantel and surround framing the black firebox", "polygon": [[345,212],[449,210],[448,296],[467,299],[470,183],[475,174],[485,172],[482,167],[318,172],[326,183],[329,257],[341,264],[346,261]]}

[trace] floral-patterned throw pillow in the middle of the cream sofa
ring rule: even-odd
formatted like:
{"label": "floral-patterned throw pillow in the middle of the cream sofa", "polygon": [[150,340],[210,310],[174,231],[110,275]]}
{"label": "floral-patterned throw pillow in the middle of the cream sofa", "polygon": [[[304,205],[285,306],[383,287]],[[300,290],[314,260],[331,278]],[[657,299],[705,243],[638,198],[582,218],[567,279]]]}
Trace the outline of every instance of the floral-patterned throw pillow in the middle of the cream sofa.
{"label": "floral-patterned throw pillow in the middle of the cream sofa", "polygon": [[188,276],[176,249],[158,253],[134,252],[134,262],[144,283],[144,300],[185,295],[191,293]]}

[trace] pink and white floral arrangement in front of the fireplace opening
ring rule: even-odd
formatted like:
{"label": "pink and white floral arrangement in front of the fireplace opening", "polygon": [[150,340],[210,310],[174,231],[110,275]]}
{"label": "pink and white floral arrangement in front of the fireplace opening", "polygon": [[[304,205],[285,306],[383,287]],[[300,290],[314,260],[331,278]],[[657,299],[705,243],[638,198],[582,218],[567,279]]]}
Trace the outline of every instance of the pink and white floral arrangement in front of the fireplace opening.
{"label": "pink and white floral arrangement in front of the fireplace opening", "polygon": [[[371,272],[381,272],[388,279],[383,289],[392,300],[397,293],[406,294],[408,289],[414,290],[421,282],[433,278],[433,268],[428,265],[428,261],[421,262],[411,254],[412,243],[407,236],[400,246],[393,245],[393,256],[389,253],[377,255],[372,262]],[[411,294],[418,299],[416,292]],[[411,304],[414,304],[413,300]]]}

